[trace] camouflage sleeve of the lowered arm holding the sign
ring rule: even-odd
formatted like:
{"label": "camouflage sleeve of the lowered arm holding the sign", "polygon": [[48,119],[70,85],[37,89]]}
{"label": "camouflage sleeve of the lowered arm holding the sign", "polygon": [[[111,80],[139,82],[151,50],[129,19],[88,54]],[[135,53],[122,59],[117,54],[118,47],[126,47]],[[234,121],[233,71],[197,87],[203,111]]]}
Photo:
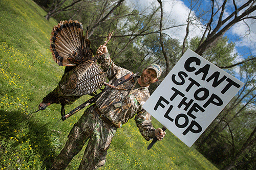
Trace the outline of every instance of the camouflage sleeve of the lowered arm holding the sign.
{"label": "camouflage sleeve of the lowered arm holding the sign", "polygon": [[155,137],[155,128],[151,123],[151,115],[142,109],[135,116],[135,122],[140,130],[141,135],[148,141]]}

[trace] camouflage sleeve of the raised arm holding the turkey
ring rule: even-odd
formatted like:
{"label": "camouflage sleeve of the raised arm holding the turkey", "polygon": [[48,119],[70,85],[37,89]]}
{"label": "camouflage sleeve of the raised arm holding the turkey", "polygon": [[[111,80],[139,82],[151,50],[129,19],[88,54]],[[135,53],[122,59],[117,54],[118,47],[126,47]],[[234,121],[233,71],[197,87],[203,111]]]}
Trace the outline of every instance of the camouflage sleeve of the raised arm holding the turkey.
{"label": "camouflage sleeve of the raised arm holding the turkey", "polygon": [[122,67],[117,66],[110,58],[109,53],[101,54],[98,58],[98,63],[101,68],[108,74],[108,79],[111,80],[116,75],[117,71]]}

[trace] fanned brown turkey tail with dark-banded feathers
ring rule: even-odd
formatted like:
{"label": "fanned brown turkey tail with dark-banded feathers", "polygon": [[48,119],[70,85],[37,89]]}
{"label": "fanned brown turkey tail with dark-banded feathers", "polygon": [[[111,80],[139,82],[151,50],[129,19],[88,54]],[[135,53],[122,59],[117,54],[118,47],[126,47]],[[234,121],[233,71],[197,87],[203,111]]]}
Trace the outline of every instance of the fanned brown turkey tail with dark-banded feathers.
{"label": "fanned brown turkey tail with dark-banded feathers", "polygon": [[62,66],[76,66],[92,58],[90,40],[83,36],[82,23],[78,21],[60,21],[53,27],[50,50],[54,61]]}

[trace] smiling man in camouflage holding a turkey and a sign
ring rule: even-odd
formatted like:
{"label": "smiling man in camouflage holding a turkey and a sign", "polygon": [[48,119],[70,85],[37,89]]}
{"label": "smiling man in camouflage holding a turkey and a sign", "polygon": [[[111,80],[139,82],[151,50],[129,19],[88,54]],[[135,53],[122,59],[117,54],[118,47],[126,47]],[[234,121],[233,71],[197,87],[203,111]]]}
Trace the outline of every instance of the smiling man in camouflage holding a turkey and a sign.
{"label": "smiling man in camouflage holding a turkey and a sign", "polygon": [[[114,83],[131,72],[113,63],[106,46],[101,45],[97,54],[100,55],[98,62],[101,68],[108,74],[109,83]],[[97,169],[103,166],[117,129],[134,116],[136,125],[146,140],[155,136],[162,140],[166,133],[160,128],[153,128],[151,115],[142,108],[150,96],[148,86],[157,82],[161,73],[159,65],[151,64],[143,70],[141,77],[134,76],[118,85],[119,89],[106,88],[74,125],[65,147],[54,160],[52,169],[65,169],[89,138],[79,169]]]}

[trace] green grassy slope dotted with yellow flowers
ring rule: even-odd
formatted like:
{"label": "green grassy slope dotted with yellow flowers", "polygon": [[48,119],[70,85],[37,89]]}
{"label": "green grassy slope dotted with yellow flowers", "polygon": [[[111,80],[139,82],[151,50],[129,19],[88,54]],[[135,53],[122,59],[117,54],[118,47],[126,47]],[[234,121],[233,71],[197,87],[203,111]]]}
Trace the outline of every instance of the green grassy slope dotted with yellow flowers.
{"label": "green grassy slope dotted with yellow flowers", "polygon": [[[0,169],[45,169],[58,155],[83,111],[62,122],[60,105],[31,114],[55,88],[63,67],[52,59],[49,39],[57,21],[31,0],[0,1]],[[88,96],[67,106],[72,110]],[[154,126],[162,127],[155,119]],[[217,169],[172,133],[147,150],[134,120],[117,131],[99,169]],[[84,149],[67,169],[79,166]]]}

